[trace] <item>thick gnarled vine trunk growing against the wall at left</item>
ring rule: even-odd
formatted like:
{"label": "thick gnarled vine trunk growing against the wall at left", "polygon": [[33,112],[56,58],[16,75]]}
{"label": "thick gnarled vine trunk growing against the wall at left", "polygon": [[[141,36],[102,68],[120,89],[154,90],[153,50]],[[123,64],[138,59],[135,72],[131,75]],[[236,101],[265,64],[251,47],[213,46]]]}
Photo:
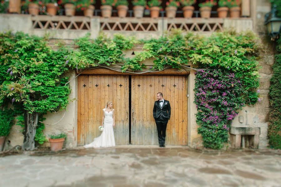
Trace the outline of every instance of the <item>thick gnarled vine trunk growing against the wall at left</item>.
{"label": "thick gnarled vine trunk growing against the wall at left", "polygon": [[24,111],[24,141],[23,150],[33,150],[35,148],[35,134],[38,123],[38,113],[28,113]]}

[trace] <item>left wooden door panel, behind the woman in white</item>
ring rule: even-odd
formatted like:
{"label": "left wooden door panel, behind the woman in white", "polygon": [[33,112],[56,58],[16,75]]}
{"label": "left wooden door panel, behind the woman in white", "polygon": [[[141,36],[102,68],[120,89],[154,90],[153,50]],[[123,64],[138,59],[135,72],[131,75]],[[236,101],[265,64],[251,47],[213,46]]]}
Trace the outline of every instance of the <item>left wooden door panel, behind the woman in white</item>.
{"label": "left wooden door panel, behind the woman in white", "polygon": [[[114,135],[117,145],[129,144],[129,76],[81,75],[78,77],[77,145],[85,145],[100,136],[107,101],[115,109]],[[126,112],[127,111],[127,112]]]}

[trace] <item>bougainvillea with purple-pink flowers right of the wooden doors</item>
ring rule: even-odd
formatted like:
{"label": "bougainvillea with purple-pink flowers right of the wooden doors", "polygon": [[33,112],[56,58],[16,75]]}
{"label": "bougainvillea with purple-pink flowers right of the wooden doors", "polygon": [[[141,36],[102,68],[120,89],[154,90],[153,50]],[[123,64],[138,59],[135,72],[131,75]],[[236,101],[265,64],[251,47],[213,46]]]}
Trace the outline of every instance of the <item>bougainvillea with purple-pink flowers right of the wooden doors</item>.
{"label": "bougainvillea with purple-pink flowers right of the wooden doors", "polygon": [[217,70],[196,72],[195,103],[198,132],[205,147],[220,149],[238,109],[245,106],[243,86],[234,73]]}

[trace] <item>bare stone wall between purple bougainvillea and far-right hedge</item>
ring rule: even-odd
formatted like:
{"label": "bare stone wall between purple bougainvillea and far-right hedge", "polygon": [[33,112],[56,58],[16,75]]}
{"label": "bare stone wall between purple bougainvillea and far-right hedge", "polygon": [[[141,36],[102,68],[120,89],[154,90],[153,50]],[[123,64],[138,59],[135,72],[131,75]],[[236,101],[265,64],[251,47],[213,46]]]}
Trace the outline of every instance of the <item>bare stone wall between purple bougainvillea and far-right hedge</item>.
{"label": "bare stone wall between purple bougainvillea and far-right hedge", "polygon": [[[272,65],[274,64],[274,42],[270,41],[264,26],[264,15],[271,10],[268,0],[256,1],[256,15],[254,16],[254,31],[260,38],[261,49],[259,51],[259,81],[260,81],[260,102],[254,106],[246,106],[234,118],[233,125],[251,125],[260,127],[259,148],[268,146],[267,129],[269,118],[269,87],[270,78],[273,75]],[[244,122],[239,123],[239,116],[244,117]]]}

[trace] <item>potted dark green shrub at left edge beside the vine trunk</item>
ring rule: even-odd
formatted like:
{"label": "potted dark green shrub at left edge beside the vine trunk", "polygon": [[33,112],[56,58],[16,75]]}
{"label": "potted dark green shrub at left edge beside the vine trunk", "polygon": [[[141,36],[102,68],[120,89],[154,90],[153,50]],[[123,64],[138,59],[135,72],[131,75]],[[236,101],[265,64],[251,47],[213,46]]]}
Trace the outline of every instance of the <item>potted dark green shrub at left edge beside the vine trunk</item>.
{"label": "potted dark green shrub at left edge beside the vine trunk", "polygon": [[0,109],[0,151],[3,150],[5,139],[10,133],[13,124],[14,111],[12,109]]}

